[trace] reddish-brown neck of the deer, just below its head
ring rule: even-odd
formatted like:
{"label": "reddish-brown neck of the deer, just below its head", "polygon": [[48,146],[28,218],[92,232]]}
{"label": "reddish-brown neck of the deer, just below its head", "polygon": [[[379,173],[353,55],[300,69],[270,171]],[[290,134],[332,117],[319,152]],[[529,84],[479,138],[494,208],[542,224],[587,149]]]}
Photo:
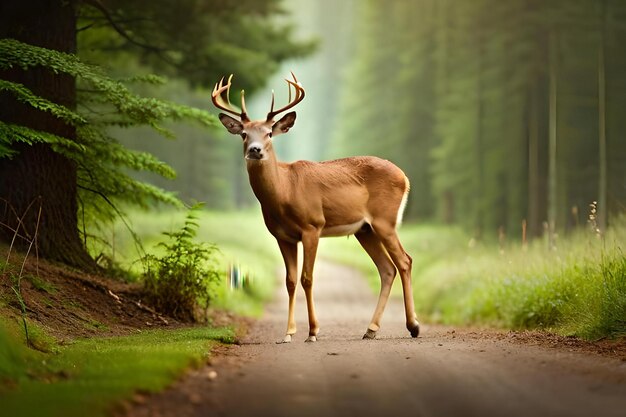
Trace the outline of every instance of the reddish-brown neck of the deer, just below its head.
{"label": "reddish-brown neck of the deer, just below its head", "polygon": [[263,161],[246,161],[250,186],[264,209],[277,208],[285,195],[275,155]]}

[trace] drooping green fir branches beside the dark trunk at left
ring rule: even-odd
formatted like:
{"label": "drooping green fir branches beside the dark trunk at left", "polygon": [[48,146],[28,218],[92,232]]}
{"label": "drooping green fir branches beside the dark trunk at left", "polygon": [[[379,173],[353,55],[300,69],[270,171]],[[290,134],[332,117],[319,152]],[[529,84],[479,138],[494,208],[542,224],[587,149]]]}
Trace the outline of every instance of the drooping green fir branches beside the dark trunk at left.
{"label": "drooping green fir branches beside the dark trunk at left", "polygon": [[[0,158],[15,155],[17,143],[46,143],[56,152],[76,162],[79,203],[87,222],[107,222],[119,214],[117,206],[131,203],[147,207],[161,201],[180,205],[171,192],[134,179],[129,170],[149,171],[166,178],[175,172],[146,152],[132,151],[110,135],[111,127],[149,126],[166,137],[167,121],[193,120],[201,126],[215,124],[210,114],[166,100],[141,97],[124,82],[108,77],[99,67],[83,63],[78,57],[27,45],[12,39],[0,40],[0,69],[45,67],[58,74],[74,77],[78,85],[78,109],[70,109],[35,95],[23,85],[0,80],[0,90],[19,101],[47,112],[76,128],[76,141],[46,132],[0,122]],[[160,84],[156,76],[134,77],[127,82]]]}

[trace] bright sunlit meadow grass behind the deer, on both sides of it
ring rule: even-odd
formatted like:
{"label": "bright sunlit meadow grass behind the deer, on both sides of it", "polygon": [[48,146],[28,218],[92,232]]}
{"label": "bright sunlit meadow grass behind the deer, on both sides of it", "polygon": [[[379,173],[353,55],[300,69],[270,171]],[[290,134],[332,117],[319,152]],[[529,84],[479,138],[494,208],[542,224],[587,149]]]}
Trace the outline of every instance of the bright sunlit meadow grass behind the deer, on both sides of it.
{"label": "bright sunlit meadow grass behind the deer, on both sides of it", "polygon": [[[183,215],[137,216],[133,222],[139,235],[150,241],[164,225],[175,228]],[[200,224],[201,239],[220,247],[224,270],[240,264],[255,279],[247,292],[223,285],[217,304],[258,314],[282,265],[260,213],[205,212]],[[556,250],[541,239],[527,247],[514,242],[500,247],[495,241],[469,244],[461,229],[440,225],[405,225],[400,236],[413,258],[421,319],[541,328],[588,339],[626,334],[626,220],[616,222],[602,239],[588,230],[561,237]],[[354,237],[322,239],[319,257],[361,270],[378,291],[375,266]],[[399,281],[394,295],[400,292]]]}

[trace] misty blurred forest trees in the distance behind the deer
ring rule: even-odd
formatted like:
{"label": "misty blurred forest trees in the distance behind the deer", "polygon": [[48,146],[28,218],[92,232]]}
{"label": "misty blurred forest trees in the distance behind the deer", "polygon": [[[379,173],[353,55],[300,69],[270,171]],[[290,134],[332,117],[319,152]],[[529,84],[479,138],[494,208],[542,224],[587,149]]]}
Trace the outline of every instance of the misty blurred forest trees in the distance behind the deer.
{"label": "misty blurred forest trees in the distance behind the deer", "polygon": [[[234,55],[239,63],[219,56],[212,74],[186,77],[205,90],[174,81],[173,97],[212,111],[206,88],[235,73],[236,90],[258,92],[250,107],[260,117],[270,89],[284,96],[282,77],[293,70],[307,98],[296,129],[276,143],[282,158],[388,158],[411,180],[408,219],[461,224],[476,238],[519,236],[523,222],[529,236],[585,225],[593,201],[602,227],[624,211],[624,2],[280,4],[297,23],[294,39],[318,39],[316,54],[287,61],[267,83],[258,82],[258,61],[246,53]],[[242,26],[232,39],[245,45],[250,29]],[[277,69],[270,67],[268,75]],[[176,129],[183,139],[175,143],[128,139],[149,144],[179,172],[160,185],[209,207],[255,204],[236,140]]]}

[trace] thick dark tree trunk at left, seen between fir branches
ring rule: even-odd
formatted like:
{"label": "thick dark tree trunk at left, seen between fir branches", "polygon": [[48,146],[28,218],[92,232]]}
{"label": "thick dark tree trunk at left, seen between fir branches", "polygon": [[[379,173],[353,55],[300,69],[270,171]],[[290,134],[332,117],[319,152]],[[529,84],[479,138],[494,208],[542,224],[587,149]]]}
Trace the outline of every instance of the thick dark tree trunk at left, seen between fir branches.
{"label": "thick dark tree trunk at left, seen between fir branches", "polygon": [[[75,3],[67,0],[28,0],[0,5],[0,37],[73,53],[76,50]],[[18,82],[35,94],[74,108],[74,78],[45,68],[16,68],[0,72],[0,78]],[[0,94],[0,119],[32,129],[74,139],[76,131],[59,119]],[[20,235],[33,238],[40,256],[82,269],[96,268],[80,239],[77,224],[77,171],[70,159],[50,146],[16,145],[19,154],[0,159],[0,238]],[[41,207],[41,217],[38,216]],[[22,218],[19,226],[18,217]],[[16,244],[26,243],[17,239]]]}

